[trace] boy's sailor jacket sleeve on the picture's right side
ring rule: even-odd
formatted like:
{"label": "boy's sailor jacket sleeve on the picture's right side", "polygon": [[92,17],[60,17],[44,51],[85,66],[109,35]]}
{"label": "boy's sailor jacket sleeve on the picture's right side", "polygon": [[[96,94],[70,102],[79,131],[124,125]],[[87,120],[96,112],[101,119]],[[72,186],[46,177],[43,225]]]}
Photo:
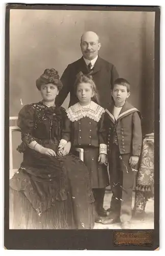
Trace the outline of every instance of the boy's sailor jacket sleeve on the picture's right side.
{"label": "boy's sailor jacket sleeve on the picture's right side", "polygon": [[142,149],[142,126],[141,119],[137,112],[133,113],[133,136],[132,136],[132,155],[140,156]]}

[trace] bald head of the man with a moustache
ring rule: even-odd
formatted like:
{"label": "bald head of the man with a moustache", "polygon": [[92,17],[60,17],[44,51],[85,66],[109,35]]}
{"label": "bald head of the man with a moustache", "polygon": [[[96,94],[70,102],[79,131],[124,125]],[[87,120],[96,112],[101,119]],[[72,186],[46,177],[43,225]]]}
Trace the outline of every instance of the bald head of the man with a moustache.
{"label": "bald head of the man with a moustache", "polygon": [[87,31],[81,36],[80,47],[82,55],[89,60],[94,59],[98,55],[101,47],[98,35],[93,31]]}

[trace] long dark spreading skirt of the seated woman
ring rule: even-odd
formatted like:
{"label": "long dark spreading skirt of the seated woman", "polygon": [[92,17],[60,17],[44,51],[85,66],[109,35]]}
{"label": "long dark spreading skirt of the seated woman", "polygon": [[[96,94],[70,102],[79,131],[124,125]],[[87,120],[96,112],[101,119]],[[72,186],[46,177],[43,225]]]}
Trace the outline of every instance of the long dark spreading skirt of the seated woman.
{"label": "long dark spreading skirt of the seated woman", "polygon": [[[53,172],[54,182],[51,181]],[[45,182],[45,176],[50,177],[50,181]],[[41,208],[40,214],[36,209]],[[10,229],[93,227],[94,198],[88,168],[82,161],[73,155],[38,159],[36,154],[33,166],[28,166],[27,161],[22,163],[10,180]]]}

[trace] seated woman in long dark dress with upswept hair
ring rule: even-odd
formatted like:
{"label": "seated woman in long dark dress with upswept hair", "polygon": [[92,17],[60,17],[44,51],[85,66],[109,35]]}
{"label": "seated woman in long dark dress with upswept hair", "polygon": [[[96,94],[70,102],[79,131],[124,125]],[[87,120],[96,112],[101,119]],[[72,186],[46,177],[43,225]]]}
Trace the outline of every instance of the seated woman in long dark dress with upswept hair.
{"label": "seated woman in long dark dress with upswept hair", "polygon": [[10,180],[11,229],[91,229],[93,194],[88,169],[68,154],[70,142],[58,152],[65,109],[54,100],[62,88],[58,72],[46,69],[36,86],[43,98],[25,105],[18,115],[23,162]]}

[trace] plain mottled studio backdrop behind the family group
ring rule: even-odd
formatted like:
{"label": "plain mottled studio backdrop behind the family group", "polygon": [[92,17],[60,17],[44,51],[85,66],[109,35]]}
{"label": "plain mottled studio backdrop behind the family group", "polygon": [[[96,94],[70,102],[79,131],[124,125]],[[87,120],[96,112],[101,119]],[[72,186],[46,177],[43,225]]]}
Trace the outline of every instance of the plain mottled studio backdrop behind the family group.
{"label": "plain mottled studio backdrop behind the family group", "polygon": [[[143,132],[152,132],[154,19],[154,12],[11,10],[10,116],[17,116],[23,105],[41,99],[36,79],[52,67],[61,76],[69,63],[81,57],[82,33],[92,30],[100,36],[99,55],[131,83],[129,101],[142,112]],[[68,102],[69,96],[65,108]],[[15,134],[14,167],[21,157],[15,151],[19,141]]]}

